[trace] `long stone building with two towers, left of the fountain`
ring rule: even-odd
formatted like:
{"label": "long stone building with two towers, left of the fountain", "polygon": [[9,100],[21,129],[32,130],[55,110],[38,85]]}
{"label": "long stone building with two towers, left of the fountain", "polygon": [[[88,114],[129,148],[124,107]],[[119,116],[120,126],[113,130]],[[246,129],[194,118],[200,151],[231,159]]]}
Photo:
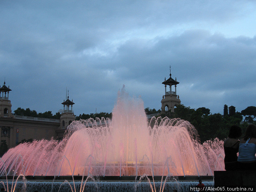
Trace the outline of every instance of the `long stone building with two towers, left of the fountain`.
{"label": "long stone building with two towers, left of the fountain", "polygon": [[[67,126],[75,120],[72,106],[75,104],[67,98],[63,103],[60,119],[26,117],[12,114],[9,99],[10,87],[5,82],[0,87],[0,143],[5,140],[8,148],[15,147],[23,139],[62,139]],[[71,106],[71,110],[69,109]]]}

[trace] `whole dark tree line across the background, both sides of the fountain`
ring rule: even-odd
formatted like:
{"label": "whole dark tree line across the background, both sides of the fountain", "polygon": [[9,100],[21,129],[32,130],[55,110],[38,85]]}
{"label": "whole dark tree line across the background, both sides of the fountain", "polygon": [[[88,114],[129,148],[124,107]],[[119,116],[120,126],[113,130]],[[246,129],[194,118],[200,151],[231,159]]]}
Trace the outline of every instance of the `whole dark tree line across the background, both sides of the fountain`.
{"label": "whole dark tree line across the background, both sides of the fountain", "polygon": [[[44,113],[37,113],[35,110],[29,108],[18,108],[14,110],[16,115],[42,117],[42,118],[54,118],[60,119],[61,114],[58,112],[55,115],[51,111]],[[242,131],[245,132],[249,123],[256,124],[256,107],[249,106],[241,112],[236,112],[235,107],[231,106],[228,110],[227,105],[224,105],[223,115],[220,113],[210,113],[208,108],[192,109],[184,105],[177,105],[174,112],[170,110],[161,113],[161,110],[145,109],[146,114],[157,114],[157,116],[169,117],[169,118],[181,118],[189,121],[198,131],[201,142],[218,137],[219,139],[227,138],[229,127],[231,125],[239,125]],[[112,113],[100,112],[90,114],[79,114],[76,116],[76,120],[88,119],[88,118],[112,118]]]}

